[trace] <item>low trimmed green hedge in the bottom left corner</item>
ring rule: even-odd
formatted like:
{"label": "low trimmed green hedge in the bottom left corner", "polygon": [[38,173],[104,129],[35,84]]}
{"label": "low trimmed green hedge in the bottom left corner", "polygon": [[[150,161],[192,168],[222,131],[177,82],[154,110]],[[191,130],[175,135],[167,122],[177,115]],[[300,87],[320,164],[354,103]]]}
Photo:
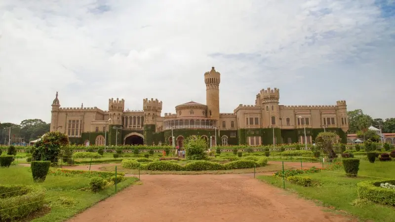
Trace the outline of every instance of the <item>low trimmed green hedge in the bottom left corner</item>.
{"label": "low trimmed green hedge in the bottom left corner", "polygon": [[42,186],[0,185],[0,193],[0,221],[26,218],[44,204],[45,188]]}

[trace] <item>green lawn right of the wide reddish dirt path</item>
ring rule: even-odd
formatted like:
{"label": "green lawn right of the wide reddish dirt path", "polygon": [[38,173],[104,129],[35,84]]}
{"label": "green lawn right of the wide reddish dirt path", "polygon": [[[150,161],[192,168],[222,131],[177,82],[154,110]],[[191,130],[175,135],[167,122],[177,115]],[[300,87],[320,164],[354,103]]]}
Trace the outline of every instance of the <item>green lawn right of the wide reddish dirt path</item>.
{"label": "green lawn right of the wide reddish dirt path", "polygon": [[[395,161],[372,164],[362,160],[359,165],[359,176],[357,178],[346,177],[343,169],[335,170],[334,172],[321,171],[320,173],[303,175],[320,181],[320,187],[303,187],[290,184],[287,181],[285,181],[285,187],[292,192],[299,193],[302,197],[317,200],[323,206],[332,209],[346,211],[362,220],[395,221],[395,207],[361,201],[358,199],[356,190],[358,182],[378,180],[377,178],[362,177],[362,175],[394,179]],[[258,179],[282,188],[281,178],[259,176]]]}

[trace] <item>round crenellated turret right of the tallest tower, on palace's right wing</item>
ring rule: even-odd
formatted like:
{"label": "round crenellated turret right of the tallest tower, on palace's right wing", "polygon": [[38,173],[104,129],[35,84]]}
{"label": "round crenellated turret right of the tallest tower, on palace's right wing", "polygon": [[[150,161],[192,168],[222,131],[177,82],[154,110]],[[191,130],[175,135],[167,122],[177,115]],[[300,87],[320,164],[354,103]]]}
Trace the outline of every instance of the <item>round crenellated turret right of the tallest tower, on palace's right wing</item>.
{"label": "round crenellated turret right of the tallest tower, on palace's right wing", "polygon": [[263,127],[274,126],[280,127],[278,100],[280,99],[280,90],[277,88],[262,89],[260,91],[261,106],[264,119]]}

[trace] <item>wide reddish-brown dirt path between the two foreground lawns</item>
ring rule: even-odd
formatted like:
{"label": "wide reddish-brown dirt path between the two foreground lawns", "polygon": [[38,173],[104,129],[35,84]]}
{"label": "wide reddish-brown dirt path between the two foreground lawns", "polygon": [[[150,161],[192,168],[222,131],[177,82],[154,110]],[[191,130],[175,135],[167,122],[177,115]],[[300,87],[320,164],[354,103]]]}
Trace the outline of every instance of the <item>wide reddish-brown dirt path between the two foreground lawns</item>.
{"label": "wide reddish-brown dirt path between the two foreground lawns", "polygon": [[69,222],[351,221],[245,175],[141,175],[141,181]]}

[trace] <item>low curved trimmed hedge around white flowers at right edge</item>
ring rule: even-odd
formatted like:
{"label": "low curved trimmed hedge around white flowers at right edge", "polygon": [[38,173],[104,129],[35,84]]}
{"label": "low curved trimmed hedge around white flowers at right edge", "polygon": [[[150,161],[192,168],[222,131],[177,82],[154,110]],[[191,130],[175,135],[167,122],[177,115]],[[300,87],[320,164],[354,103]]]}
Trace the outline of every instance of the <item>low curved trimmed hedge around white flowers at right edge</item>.
{"label": "low curved trimmed hedge around white flowers at right edge", "polygon": [[362,181],[356,184],[358,197],[373,202],[395,205],[395,189],[380,187],[380,184],[395,185],[395,180]]}

